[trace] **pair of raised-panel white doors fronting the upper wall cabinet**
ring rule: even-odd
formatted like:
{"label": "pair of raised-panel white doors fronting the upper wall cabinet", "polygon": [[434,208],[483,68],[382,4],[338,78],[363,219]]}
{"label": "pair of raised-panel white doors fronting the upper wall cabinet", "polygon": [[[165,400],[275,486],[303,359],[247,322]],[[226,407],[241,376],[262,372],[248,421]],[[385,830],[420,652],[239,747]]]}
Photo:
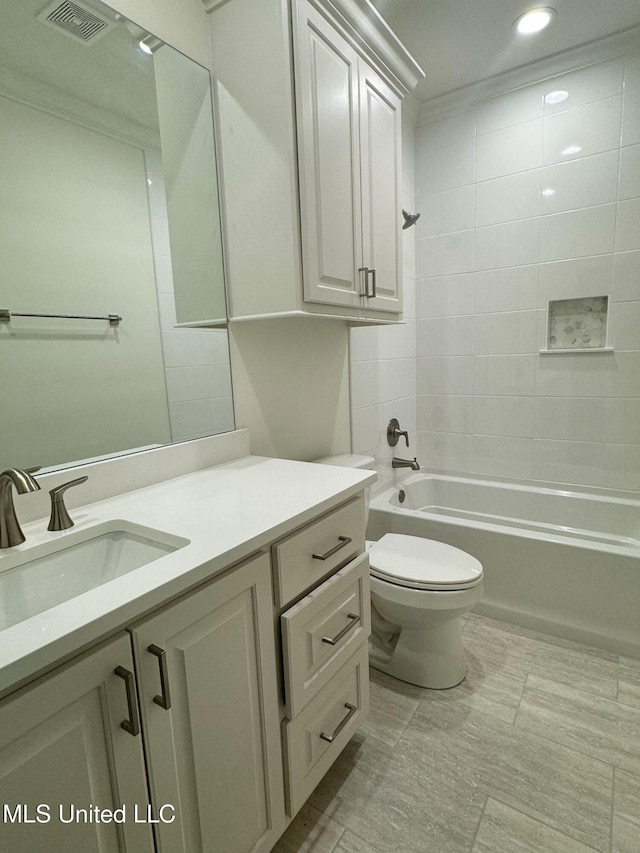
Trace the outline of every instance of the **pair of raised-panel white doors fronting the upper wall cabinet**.
{"label": "pair of raised-panel white doors fronting the upper wall cabinet", "polygon": [[304,299],[400,312],[400,99],[311,3],[297,9]]}

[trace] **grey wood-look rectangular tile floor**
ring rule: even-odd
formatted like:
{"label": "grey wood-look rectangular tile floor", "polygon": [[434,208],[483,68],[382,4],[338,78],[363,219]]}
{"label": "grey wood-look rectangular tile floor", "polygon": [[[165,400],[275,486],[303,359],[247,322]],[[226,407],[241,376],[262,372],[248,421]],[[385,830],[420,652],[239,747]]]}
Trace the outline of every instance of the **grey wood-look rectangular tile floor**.
{"label": "grey wood-look rectangular tile floor", "polygon": [[640,660],[475,614],[464,644],[451,690],[371,670],[274,853],[640,853]]}

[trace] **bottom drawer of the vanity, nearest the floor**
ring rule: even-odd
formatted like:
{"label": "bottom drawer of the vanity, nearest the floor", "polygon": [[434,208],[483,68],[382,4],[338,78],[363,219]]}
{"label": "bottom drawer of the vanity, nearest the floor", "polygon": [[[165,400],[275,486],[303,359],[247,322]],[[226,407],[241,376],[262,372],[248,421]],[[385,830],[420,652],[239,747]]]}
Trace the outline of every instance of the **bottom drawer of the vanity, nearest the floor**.
{"label": "bottom drawer of the vanity, nearest the floor", "polygon": [[369,710],[369,649],[363,644],[326,689],[283,723],[286,800],[298,812]]}

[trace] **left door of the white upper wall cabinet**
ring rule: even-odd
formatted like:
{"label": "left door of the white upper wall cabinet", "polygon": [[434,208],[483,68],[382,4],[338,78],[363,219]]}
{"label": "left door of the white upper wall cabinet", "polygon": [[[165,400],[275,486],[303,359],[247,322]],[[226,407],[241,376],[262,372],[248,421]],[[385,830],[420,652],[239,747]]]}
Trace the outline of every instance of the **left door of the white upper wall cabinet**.
{"label": "left door of the white upper wall cabinet", "polygon": [[297,47],[304,298],[359,307],[358,56],[309,3],[299,6]]}

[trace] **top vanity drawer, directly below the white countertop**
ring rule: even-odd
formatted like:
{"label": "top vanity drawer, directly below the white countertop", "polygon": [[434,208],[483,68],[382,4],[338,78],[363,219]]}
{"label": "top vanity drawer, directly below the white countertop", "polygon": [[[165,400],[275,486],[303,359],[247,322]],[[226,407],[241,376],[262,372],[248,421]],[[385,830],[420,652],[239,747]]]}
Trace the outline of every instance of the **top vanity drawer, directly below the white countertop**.
{"label": "top vanity drawer, directly below the white countertop", "polygon": [[364,550],[364,500],[358,496],[273,546],[276,606],[286,607]]}

